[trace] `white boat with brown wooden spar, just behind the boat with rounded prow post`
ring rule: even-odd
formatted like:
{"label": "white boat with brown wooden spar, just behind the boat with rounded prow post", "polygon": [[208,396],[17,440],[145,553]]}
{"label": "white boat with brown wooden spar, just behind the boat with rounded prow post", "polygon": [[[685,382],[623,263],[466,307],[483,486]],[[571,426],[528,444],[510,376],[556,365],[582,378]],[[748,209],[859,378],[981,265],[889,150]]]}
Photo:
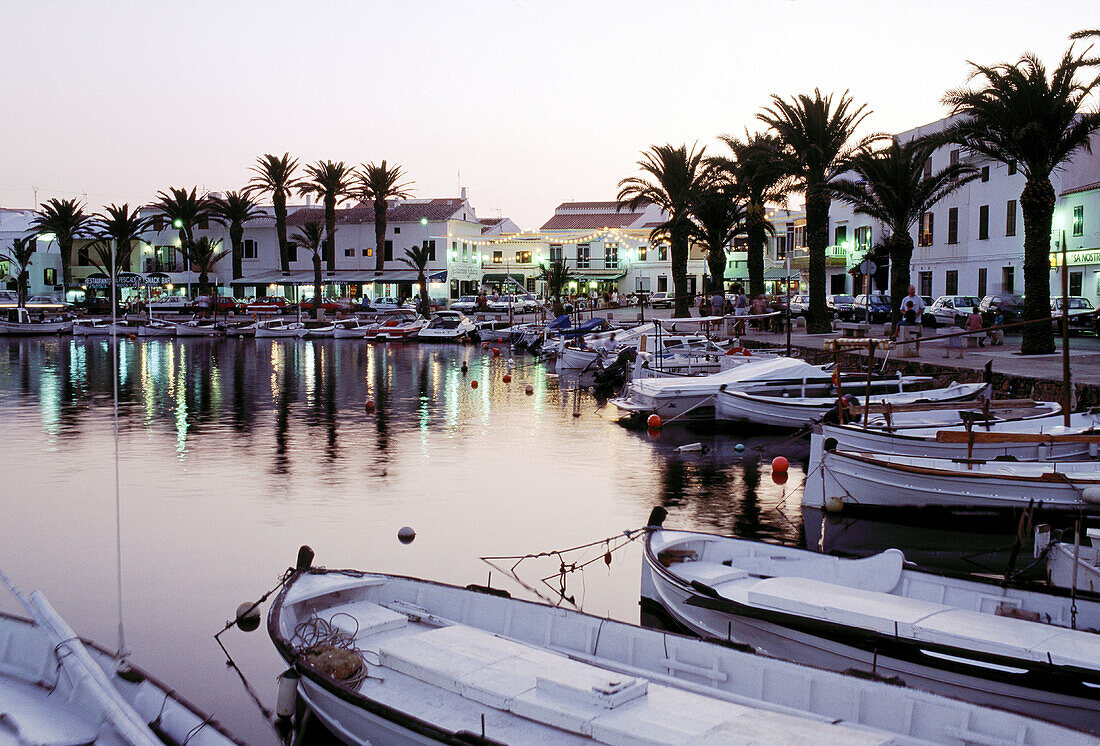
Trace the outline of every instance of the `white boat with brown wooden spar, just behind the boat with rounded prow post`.
{"label": "white boat with brown wooden spar, just behind the boat with rounded prow post", "polygon": [[[1069,416],[1068,428],[1060,414],[1008,420],[997,418],[997,410],[992,410],[991,415],[994,417],[992,421],[975,425],[969,432],[964,425],[897,431],[860,425],[823,425],[820,442],[822,447],[828,443],[831,448],[842,451],[938,459],[991,460],[1011,457],[1020,461],[1052,461],[1096,458],[1098,454],[1094,442],[1076,436],[1100,435],[1100,413],[1074,413]],[[812,462],[814,456],[815,451],[811,451]],[[816,458],[820,459],[821,454],[816,453]]]}

